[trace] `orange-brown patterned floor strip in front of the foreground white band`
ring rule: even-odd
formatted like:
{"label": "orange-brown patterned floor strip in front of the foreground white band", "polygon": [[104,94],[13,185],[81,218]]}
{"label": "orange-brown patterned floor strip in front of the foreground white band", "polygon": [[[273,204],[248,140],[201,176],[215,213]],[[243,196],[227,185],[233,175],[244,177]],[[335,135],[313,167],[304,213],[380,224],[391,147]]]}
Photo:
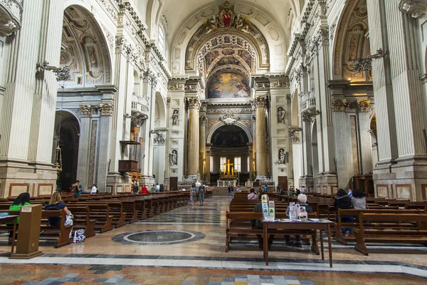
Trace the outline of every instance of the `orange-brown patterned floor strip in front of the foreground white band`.
{"label": "orange-brown patterned floor strip in front of the foreground white band", "polygon": [[327,272],[230,271],[224,269],[162,269],[134,266],[6,265],[0,284],[427,284],[427,279],[399,274],[334,274]]}

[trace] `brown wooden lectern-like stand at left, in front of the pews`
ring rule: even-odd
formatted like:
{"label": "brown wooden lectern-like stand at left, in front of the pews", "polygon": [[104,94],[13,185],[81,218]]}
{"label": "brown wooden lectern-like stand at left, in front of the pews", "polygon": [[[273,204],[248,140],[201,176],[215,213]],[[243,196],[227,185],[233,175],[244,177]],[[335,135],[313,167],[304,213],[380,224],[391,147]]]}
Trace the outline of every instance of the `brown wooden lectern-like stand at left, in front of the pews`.
{"label": "brown wooden lectern-like stand at left, in front of the pews", "polygon": [[31,259],[43,254],[38,250],[42,208],[41,204],[21,207],[16,253],[11,255],[11,259]]}

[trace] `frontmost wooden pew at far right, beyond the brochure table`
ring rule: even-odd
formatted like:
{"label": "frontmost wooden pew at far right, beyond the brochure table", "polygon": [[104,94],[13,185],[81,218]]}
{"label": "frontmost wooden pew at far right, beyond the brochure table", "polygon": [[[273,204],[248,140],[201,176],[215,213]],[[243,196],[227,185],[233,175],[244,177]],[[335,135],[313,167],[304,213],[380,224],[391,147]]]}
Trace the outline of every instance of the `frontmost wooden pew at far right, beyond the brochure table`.
{"label": "frontmost wooden pew at far right, beyond the brochure table", "polygon": [[[377,224],[375,228],[371,224]],[[416,227],[402,229],[399,224]],[[398,227],[398,229],[396,229]],[[354,249],[368,255],[366,242],[423,244],[427,247],[427,214],[359,214],[359,229],[354,229]]]}

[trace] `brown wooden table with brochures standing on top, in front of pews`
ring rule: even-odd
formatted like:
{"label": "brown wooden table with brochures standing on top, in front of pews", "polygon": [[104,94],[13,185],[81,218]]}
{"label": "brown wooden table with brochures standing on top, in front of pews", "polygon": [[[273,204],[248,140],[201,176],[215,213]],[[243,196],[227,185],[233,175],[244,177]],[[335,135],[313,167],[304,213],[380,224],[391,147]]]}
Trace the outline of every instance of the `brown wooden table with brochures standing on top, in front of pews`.
{"label": "brown wooden table with brochures standing on top, in front of pews", "polygon": [[[330,267],[332,267],[332,243],[331,243],[331,224],[332,222],[263,222],[264,232],[263,232],[263,241],[264,241],[264,259],[265,265],[268,265],[268,229],[295,229],[295,230],[315,230],[317,234],[317,229],[320,230],[320,248],[322,252],[322,260],[325,260],[325,253],[323,251],[323,237],[322,232],[327,232],[327,242],[329,249],[330,257]],[[314,241],[314,242],[317,242]],[[316,244],[317,246],[317,244]]]}

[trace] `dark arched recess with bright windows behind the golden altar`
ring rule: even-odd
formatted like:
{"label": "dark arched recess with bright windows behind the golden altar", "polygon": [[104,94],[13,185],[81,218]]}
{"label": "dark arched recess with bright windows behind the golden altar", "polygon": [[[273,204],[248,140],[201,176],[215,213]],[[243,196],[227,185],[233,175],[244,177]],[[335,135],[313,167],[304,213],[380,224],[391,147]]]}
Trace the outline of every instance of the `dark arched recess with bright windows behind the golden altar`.
{"label": "dark arched recess with bright windows behind the golden altar", "polygon": [[211,144],[211,184],[216,184],[220,173],[226,171],[226,163],[231,163],[233,170],[238,172],[238,184],[249,178],[250,138],[238,125],[223,125],[208,136]]}

